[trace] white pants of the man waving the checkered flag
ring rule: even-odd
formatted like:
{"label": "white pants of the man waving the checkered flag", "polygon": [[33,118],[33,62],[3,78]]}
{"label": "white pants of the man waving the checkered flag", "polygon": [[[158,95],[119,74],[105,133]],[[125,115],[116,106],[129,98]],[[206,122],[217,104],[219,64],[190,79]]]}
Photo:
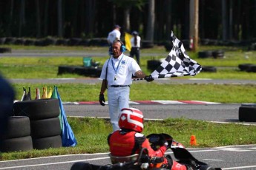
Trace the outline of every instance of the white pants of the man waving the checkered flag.
{"label": "white pants of the man waving the checkered flag", "polygon": [[121,109],[129,108],[130,87],[108,87],[108,108],[113,132],[119,130],[118,118]]}

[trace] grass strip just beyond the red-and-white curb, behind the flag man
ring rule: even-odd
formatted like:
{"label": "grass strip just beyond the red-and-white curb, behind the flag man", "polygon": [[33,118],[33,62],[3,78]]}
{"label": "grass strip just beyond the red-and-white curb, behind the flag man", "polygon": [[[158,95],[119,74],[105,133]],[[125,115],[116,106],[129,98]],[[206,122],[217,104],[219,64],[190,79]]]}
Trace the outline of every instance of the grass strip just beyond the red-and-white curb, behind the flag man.
{"label": "grass strip just beyond the red-and-white curb, behind the flag man", "polygon": [[[36,97],[36,88],[41,89],[54,84],[13,84],[16,100],[22,98],[23,89],[30,86],[32,98]],[[98,101],[101,84],[56,84],[62,101]],[[219,103],[255,103],[256,85],[232,84],[158,84],[138,82],[131,86],[131,101],[168,100],[168,101],[211,101]],[[232,90],[231,90],[232,89]],[[194,92],[194,93],[192,93]],[[105,99],[108,100],[107,92]]]}

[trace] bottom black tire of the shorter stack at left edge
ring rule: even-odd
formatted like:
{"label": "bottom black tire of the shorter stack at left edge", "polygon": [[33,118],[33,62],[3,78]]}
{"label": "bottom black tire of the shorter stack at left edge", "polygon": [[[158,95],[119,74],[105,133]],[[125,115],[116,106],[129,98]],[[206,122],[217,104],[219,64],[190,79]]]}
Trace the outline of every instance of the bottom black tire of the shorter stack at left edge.
{"label": "bottom black tire of the shorter stack at left edge", "polygon": [[31,136],[6,139],[3,140],[0,146],[1,152],[19,152],[29,151],[31,149],[33,149]]}

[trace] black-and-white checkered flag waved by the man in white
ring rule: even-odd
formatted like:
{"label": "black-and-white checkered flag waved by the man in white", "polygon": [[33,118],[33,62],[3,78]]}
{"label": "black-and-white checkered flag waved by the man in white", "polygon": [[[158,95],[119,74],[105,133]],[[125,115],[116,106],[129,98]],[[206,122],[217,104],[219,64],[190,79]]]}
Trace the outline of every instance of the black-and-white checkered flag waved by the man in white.
{"label": "black-and-white checkered flag waved by the man in white", "polygon": [[165,61],[151,73],[152,78],[180,77],[197,75],[202,67],[186,54],[183,43],[171,32],[173,47]]}

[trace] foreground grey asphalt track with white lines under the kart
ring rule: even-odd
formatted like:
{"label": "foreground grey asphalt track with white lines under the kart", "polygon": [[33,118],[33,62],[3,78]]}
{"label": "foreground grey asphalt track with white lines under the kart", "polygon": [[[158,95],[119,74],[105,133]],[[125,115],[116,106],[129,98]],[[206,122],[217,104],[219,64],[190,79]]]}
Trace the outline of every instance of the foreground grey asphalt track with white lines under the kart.
{"label": "foreground grey asphalt track with white lines under the kart", "polygon": [[[256,169],[256,146],[225,146],[217,148],[204,148],[188,150],[197,160],[201,160],[213,167],[227,169]],[[171,151],[167,154],[173,154]],[[39,157],[25,160],[1,161],[1,169],[20,169],[20,170],[47,170],[47,169],[70,169],[73,163],[78,161],[93,163],[96,165],[107,165],[110,162],[108,153],[97,154],[73,154],[53,157]]]}

